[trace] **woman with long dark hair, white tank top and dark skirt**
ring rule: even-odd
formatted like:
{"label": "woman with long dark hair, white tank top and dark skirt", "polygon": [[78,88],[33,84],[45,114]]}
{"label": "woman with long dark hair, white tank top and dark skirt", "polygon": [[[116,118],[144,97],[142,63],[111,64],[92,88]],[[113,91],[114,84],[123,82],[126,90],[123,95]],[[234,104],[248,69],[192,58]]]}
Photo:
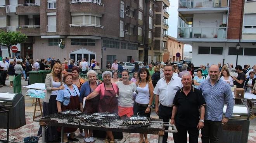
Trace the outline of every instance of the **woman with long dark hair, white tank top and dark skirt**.
{"label": "woman with long dark hair, white tank top and dark skirt", "polygon": [[[150,118],[150,107],[153,102],[153,93],[154,87],[152,81],[150,80],[149,71],[143,67],[139,72],[139,80],[137,82],[137,96],[133,106],[133,112],[136,115],[137,113],[140,116],[147,116]],[[145,140],[144,140],[145,138]],[[139,143],[149,143],[147,139],[147,134],[140,134]]]}

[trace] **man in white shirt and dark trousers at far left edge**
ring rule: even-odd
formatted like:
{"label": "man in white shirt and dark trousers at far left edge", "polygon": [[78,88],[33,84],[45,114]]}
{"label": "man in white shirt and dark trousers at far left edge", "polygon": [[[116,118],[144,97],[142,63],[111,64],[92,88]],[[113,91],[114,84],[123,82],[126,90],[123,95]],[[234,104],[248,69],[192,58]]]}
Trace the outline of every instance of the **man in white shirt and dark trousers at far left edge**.
{"label": "man in white shirt and dark trousers at far left edge", "polygon": [[3,57],[2,59],[3,61],[0,62],[0,87],[2,86],[6,86],[5,84],[5,80],[6,80],[6,77],[7,77],[7,70],[8,70],[8,67],[9,67],[9,63],[6,62],[6,58]]}

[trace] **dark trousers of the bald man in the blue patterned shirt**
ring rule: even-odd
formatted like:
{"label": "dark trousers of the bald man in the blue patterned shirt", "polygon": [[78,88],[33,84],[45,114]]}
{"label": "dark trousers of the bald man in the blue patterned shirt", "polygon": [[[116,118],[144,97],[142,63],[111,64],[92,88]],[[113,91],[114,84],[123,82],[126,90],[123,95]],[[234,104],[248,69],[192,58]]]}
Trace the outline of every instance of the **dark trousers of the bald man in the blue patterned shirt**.
{"label": "dark trousers of the bald man in the blue patterned shirt", "polygon": [[202,128],[202,143],[218,143],[221,121],[204,120]]}

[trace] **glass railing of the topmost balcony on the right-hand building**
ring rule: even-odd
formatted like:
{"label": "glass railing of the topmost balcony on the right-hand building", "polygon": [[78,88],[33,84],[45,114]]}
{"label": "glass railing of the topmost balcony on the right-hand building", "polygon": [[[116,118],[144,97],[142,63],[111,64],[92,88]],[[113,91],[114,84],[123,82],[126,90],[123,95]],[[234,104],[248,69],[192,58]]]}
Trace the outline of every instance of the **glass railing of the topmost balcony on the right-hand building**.
{"label": "glass railing of the topmost balcony on the right-hand building", "polygon": [[180,0],[179,8],[227,7],[228,0]]}

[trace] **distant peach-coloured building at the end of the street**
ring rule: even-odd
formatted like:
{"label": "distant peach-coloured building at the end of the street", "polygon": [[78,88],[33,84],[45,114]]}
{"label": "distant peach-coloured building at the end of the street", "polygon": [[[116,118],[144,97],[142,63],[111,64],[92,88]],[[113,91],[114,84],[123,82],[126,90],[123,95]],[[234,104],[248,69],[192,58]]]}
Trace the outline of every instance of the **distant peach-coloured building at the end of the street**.
{"label": "distant peach-coloured building at the end of the street", "polygon": [[[168,35],[167,51],[164,52],[163,61],[179,62],[184,57],[184,43]],[[177,57],[178,56],[178,57]]]}

